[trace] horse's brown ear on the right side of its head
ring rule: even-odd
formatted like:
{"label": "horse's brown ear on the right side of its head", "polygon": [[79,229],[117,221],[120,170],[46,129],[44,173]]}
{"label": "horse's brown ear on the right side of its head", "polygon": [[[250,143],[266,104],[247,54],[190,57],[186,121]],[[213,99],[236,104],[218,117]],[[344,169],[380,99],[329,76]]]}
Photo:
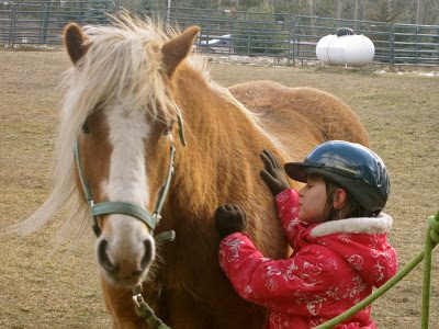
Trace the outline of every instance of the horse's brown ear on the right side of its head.
{"label": "horse's brown ear on the right side of its head", "polygon": [[169,77],[178,65],[188,56],[199,32],[199,26],[190,26],[161,47],[164,65]]}

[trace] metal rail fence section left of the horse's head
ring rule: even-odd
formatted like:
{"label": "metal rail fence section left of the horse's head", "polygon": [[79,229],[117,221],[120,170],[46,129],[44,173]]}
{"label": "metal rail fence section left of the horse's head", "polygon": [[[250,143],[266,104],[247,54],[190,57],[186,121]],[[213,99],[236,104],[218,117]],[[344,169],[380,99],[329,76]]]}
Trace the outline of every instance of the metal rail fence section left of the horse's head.
{"label": "metal rail fence section left of the horse's head", "polygon": [[0,1],[0,45],[60,44],[68,22],[105,23],[113,1]]}

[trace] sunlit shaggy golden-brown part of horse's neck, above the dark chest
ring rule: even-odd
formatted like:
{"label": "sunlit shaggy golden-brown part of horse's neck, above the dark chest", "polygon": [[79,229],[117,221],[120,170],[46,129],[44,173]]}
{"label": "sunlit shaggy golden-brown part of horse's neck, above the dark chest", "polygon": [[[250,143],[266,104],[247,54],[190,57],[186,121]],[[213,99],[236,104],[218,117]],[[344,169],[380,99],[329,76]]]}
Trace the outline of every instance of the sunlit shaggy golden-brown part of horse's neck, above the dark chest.
{"label": "sunlit shaggy golden-brown part of horse's neck, above the dark chest", "polygon": [[200,72],[184,67],[175,82],[188,139],[176,159],[178,212],[188,217],[212,216],[221,203],[251,198],[261,167],[258,155],[273,144]]}

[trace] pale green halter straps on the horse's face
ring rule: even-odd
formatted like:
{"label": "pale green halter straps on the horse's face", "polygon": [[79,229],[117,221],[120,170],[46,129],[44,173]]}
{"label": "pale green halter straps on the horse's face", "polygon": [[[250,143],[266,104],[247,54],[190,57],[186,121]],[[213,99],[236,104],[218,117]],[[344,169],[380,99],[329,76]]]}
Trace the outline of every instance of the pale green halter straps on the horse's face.
{"label": "pale green halter straps on the horse's face", "polygon": [[[184,139],[184,134],[183,134],[183,125],[181,122],[180,115],[178,116],[178,125],[179,125],[179,136],[180,140],[183,146],[185,146],[185,139]],[[169,186],[171,183],[171,179],[175,172],[173,168],[173,160],[176,157],[176,147],[173,145],[173,139],[172,139],[172,133],[168,133],[169,140],[170,140],[170,150],[169,150],[169,169],[168,169],[168,174],[165,179],[164,184],[161,185],[161,189],[158,194],[158,200],[154,209],[154,213],[150,214],[143,207],[128,203],[128,202],[122,202],[122,201],[109,201],[109,202],[100,202],[100,203],[94,203],[90,186],[85,178],[82,166],[81,166],[81,157],[80,157],[80,148],[79,148],[79,139],[76,140],[75,147],[74,147],[74,157],[75,157],[75,163],[78,169],[78,175],[79,180],[82,185],[83,193],[86,195],[87,203],[90,205],[91,208],[91,215],[93,217],[93,231],[97,237],[101,235],[101,228],[99,227],[98,224],[98,216],[102,215],[109,215],[109,214],[123,214],[123,215],[128,215],[132,216],[143,223],[146,224],[150,228],[151,231],[156,228],[156,225],[158,220],[160,220],[161,216],[161,208],[164,206],[166,196],[169,192]],[[173,230],[168,230],[160,232],[155,236],[155,239],[157,241],[172,241],[176,238],[176,232]]]}

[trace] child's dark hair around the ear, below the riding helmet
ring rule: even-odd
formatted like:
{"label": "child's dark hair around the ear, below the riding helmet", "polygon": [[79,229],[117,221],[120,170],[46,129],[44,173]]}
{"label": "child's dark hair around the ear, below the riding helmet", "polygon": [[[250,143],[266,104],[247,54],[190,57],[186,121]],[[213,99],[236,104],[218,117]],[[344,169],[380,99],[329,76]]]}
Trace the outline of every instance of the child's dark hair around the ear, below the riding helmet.
{"label": "child's dark hair around the ear, below the riding helmet", "polygon": [[[344,218],[352,218],[352,217],[376,217],[380,212],[371,212],[362,207],[357,200],[352,197],[348,192],[346,193],[346,204],[344,207],[336,209],[334,208],[334,197],[337,189],[344,189],[327,178],[317,174],[320,179],[323,179],[326,183],[326,220],[337,220]],[[346,191],[346,189],[344,189]]]}

